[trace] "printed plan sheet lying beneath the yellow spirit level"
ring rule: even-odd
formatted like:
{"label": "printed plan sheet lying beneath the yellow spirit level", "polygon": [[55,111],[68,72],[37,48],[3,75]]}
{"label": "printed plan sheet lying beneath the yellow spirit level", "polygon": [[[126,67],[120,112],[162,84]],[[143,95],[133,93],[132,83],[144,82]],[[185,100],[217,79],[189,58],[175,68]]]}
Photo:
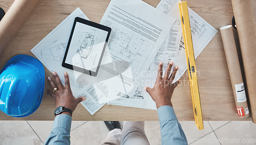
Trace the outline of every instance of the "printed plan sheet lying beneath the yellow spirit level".
{"label": "printed plan sheet lying beneath the yellow spirit level", "polygon": [[[182,28],[180,23],[180,12],[179,12],[179,0],[162,0],[159,5],[156,7],[161,12],[168,14],[174,18],[176,18],[176,22],[172,28],[173,33],[169,34],[171,40],[175,40],[174,38],[179,38],[179,42],[165,40],[162,47],[160,48],[155,61],[152,63],[151,68],[148,70],[147,74],[143,78],[141,82],[141,86],[136,90],[134,96],[126,96],[122,99],[112,101],[111,104],[122,105],[122,106],[130,106],[130,107],[138,107],[138,108],[148,108],[148,109],[156,109],[155,102],[151,99],[151,96],[143,89],[145,86],[153,87],[154,82],[156,80],[158,64],[159,62],[163,62],[163,74],[166,69],[166,65],[169,61],[174,62],[174,66],[178,66],[179,70],[177,71],[176,78],[174,82],[179,80],[182,75],[187,70],[187,62],[186,62],[186,54],[184,47],[184,40],[179,35],[182,35]],[[194,52],[195,58],[199,56],[199,54],[203,51],[205,46],[209,43],[209,41],[215,36],[217,30],[209,25],[202,17],[196,14],[193,10],[188,8],[189,17],[190,17],[190,26],[191,26],[191,34],[193,38]],[[167,37],[166,37],[167,38]],[[181,40],[180,40],[181,39]],[[167,44],[173,44],[173,46],[177,46],[178,52],[176,52],[176,56],[172,56],[175,52],[163,53],[164,48],[166,48]],[[168,58],[168,59],[166,59]],[[173,83],[174,83],[173,82]],[[139,94],[139,98],[136,97]]]}

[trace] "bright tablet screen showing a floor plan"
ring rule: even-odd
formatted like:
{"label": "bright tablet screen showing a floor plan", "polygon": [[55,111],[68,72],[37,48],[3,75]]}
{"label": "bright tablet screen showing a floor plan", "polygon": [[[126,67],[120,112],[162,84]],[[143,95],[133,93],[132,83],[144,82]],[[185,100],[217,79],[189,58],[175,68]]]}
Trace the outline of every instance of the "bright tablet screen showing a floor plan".
{"label": "bright tablet screen showing a floor plan", "polygon": [[96,72],[109,32],[79,21],[74,24],[65,63]]}

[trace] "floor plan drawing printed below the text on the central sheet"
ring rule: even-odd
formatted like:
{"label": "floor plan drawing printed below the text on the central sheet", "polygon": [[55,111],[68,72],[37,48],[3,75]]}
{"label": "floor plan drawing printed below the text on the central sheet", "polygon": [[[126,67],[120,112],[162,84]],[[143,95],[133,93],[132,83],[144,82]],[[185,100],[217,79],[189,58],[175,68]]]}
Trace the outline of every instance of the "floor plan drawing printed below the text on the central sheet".
{"label": "floor plan drawing printed below the text on the central sheet", "polygon": [[132,68],[132,75],[136,77],[144,63],[143,59],[138,58],[147,58],[150,54],[150,51],[145,51],[141,47],[147,47],[148,50],[152,50],[154,45],[128,31],[120,29],[108,20],[103,25],[112,28],[108,47],[112,58],[115,59],[115,63],[120,62],[120,65],[115,66],[120,68],[121,72],[129,69],[129,67]]}

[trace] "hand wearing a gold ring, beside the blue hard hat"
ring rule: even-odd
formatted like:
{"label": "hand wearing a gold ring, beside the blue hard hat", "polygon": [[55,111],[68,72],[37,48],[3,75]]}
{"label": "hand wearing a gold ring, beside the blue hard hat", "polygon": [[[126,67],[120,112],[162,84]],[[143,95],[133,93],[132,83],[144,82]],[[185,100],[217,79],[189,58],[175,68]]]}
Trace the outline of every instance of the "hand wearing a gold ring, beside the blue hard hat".
{"label": "hand wearing a gold ring, beside the blue hard hat", "polygon": [[[79,97],[77,99],[74,98],[71,88],[70,88],[70,83],[69,83],[69,75],[67,72],[64,72],[64,76],[65,76],[65,87],[62,85],[59,76],[57,75],[57,73],[55,71],[52,72],[53,77],[55,78],[55,81],[57,83],[57,87],[54,84],[54,82],[52,81],[51,77],[48,77],[48,81],[52,87],[53,91],[47,90],[47,92],[52,96],[52,98],[54,99],[55,102],[55,107],[65,107],[68,109],[71,109],[72,112],[74,112],[74,110],[76,109],[76,106],[78,103],[86,100],[86,98],[84,97]],[[54,88],[56,90],[54,90]],[[68,114],[71,116],[71,114],[69,112],[63,112],[61,114]]]}

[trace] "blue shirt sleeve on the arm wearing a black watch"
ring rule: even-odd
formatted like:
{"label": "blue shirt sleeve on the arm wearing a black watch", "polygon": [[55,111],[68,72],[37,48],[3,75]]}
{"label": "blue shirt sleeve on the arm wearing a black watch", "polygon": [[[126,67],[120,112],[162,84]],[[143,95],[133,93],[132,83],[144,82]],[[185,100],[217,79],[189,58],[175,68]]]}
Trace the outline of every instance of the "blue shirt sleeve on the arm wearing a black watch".
{"label": "blue shirt sleeve on the arm wearing a black watch", "polygon": [[52,132],[45,144],[70,144],[70,129],[72,117],[66,114],[59,114],[55,117]]}

